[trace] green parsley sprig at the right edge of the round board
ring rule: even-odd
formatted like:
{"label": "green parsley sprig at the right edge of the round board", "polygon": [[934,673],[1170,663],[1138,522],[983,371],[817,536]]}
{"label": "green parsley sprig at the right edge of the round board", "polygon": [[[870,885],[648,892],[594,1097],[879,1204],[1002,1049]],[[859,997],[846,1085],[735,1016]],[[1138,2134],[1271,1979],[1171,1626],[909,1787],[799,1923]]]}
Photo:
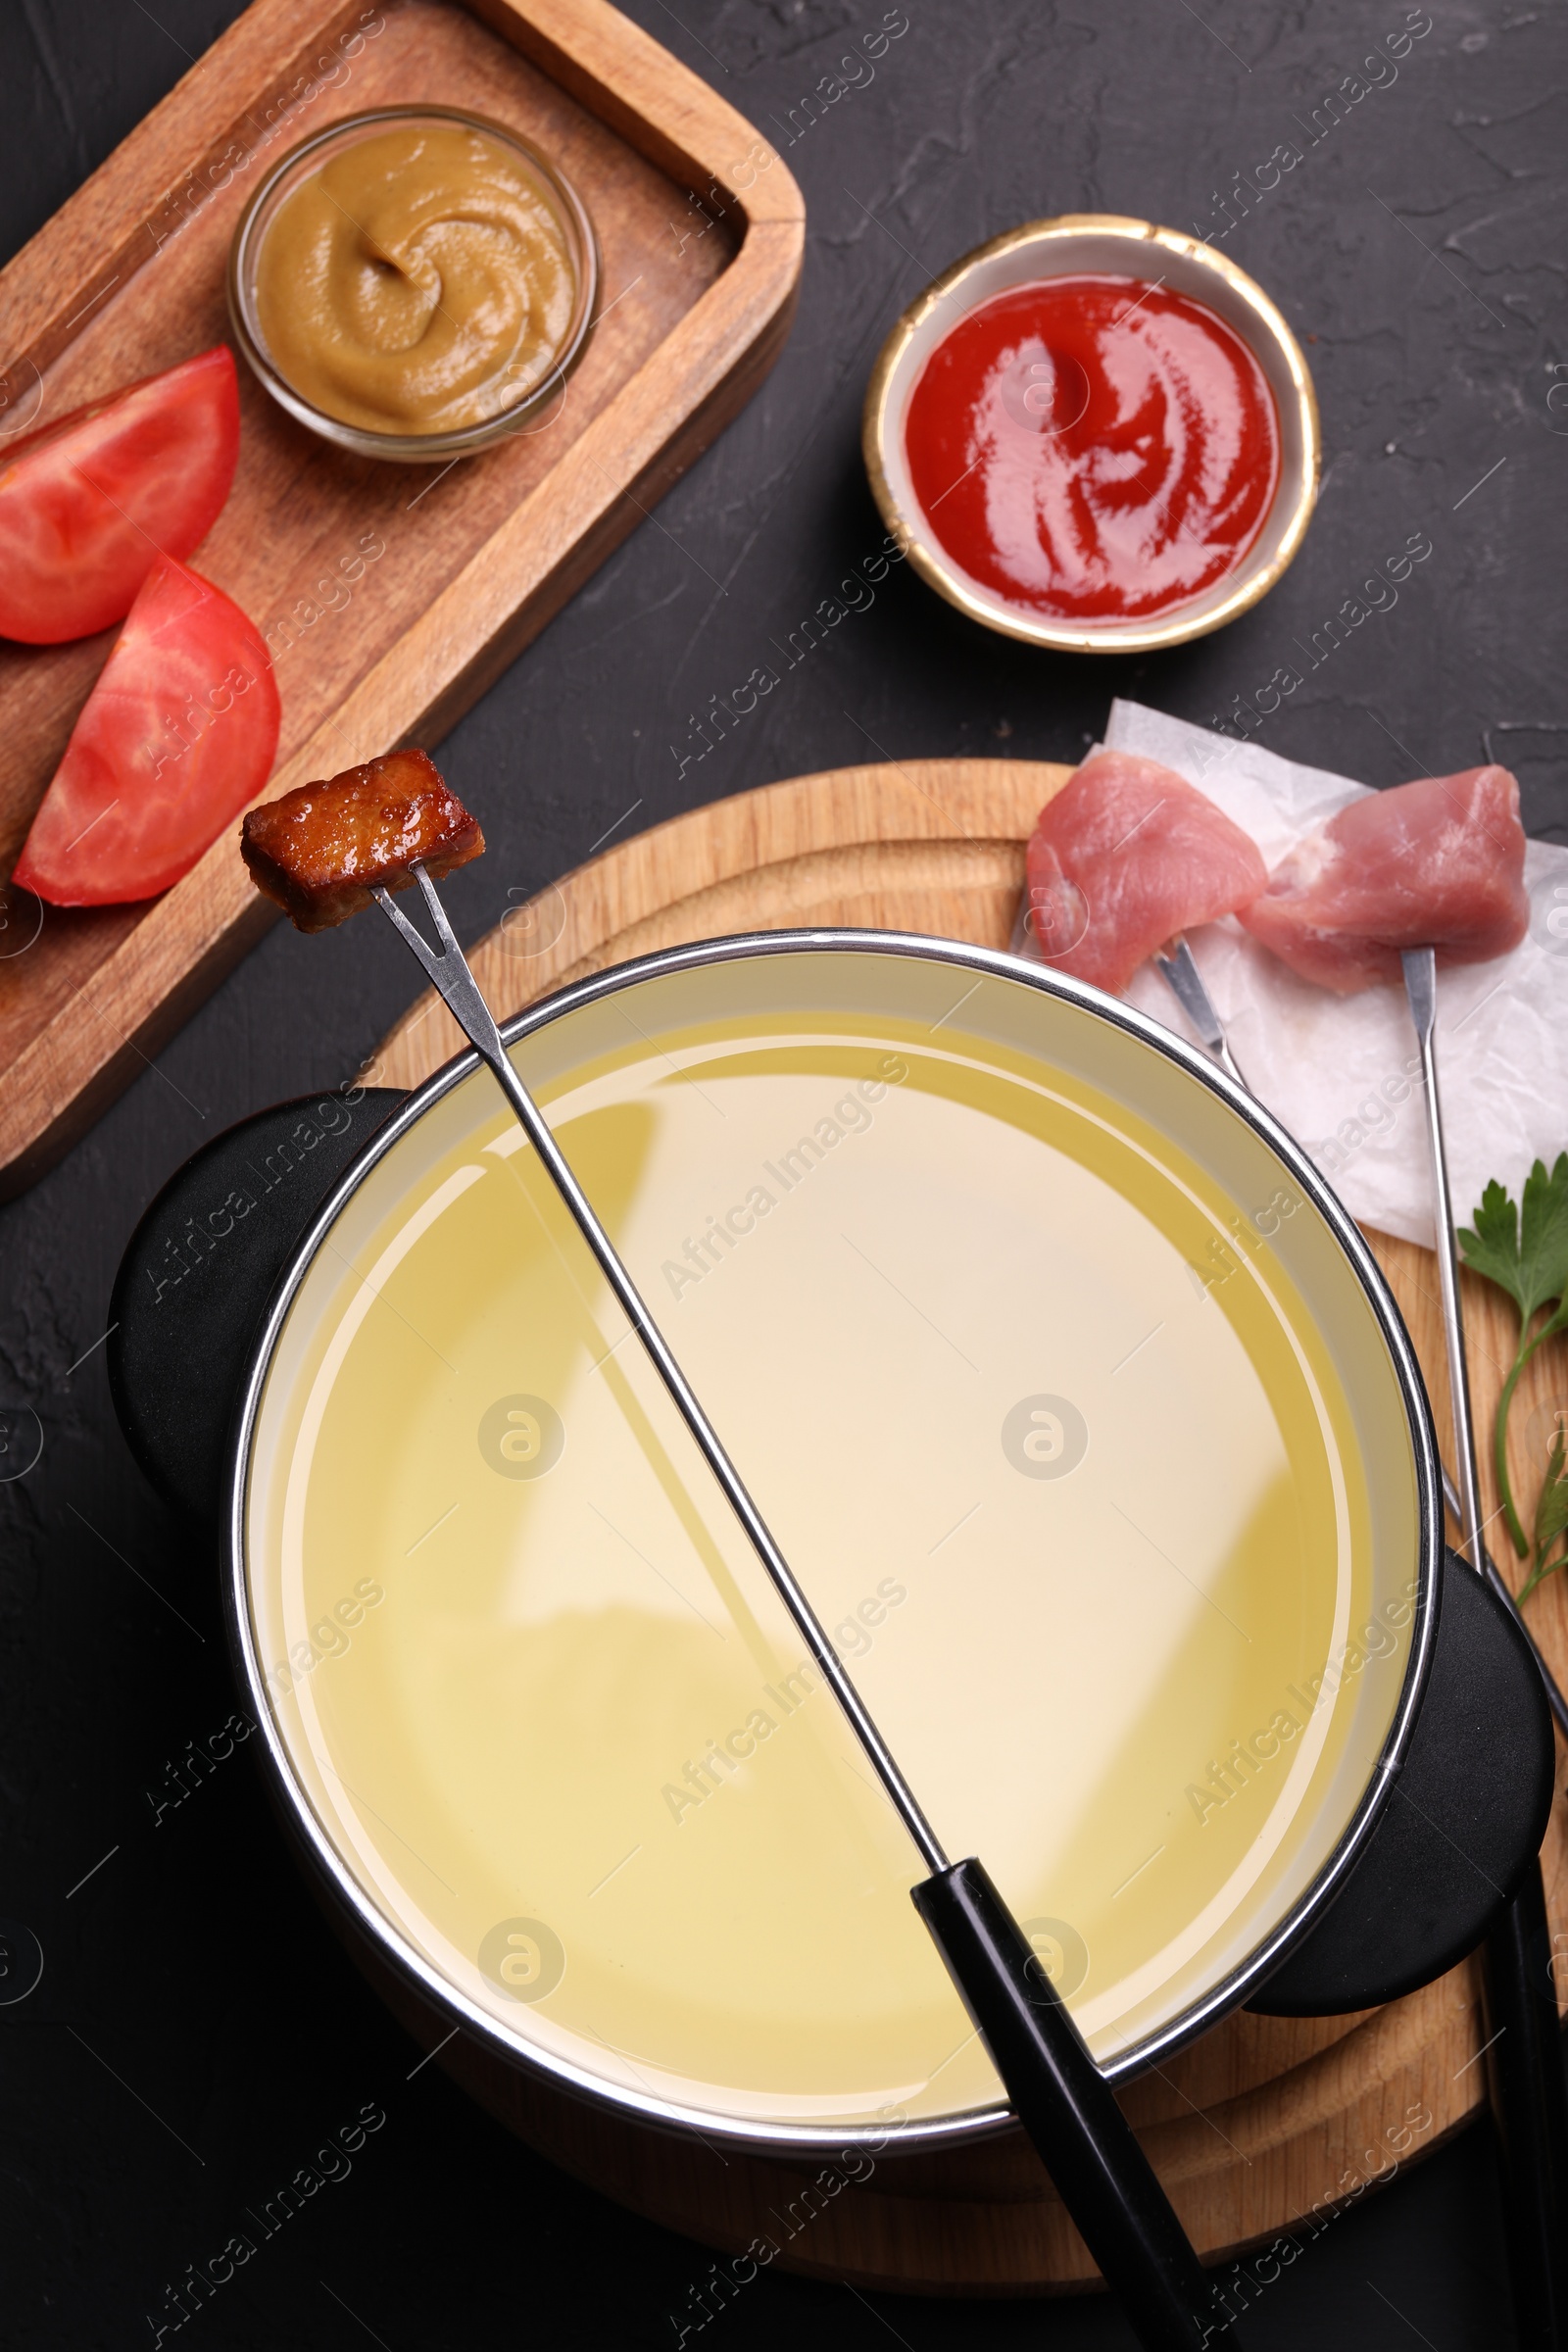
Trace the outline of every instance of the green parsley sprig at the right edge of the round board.
{"label": "green parsley sprig at the right edge of the round board", "polygon": [[[1566,1432],[1559,1430],[1552,1439],[1533,1536],[1523,1531],[1507,1461],[1507,1425],[1519,1378],[1556,1331],[1568,1331],[1568,1152],[1559,1155],[1552,1174],[1547,1174],[1544,1160],[1535,1162],[1523,1181],[1521,1204],[1514,1204],[1512,1195],[1493,1178],[1481,1195],[1474,1225],[1460,1232],[1460,1249],[1465,1263],[1505,1289],[1519,1308],[1519,1355],[1497,1397],[1493,1468],[1509,1541],[1521,1559],[1530,1559],[1530,1576],[1521,1592],[1526,1599],[1544,1576],[1568,1564]],[[1535,1324],[1542,1308],[1552,1312]],[[1535,1329],[1530,1329],[1533,1324]],[[1554,1559],[1552,1552],[1559,1545],[1566,1548]]]}

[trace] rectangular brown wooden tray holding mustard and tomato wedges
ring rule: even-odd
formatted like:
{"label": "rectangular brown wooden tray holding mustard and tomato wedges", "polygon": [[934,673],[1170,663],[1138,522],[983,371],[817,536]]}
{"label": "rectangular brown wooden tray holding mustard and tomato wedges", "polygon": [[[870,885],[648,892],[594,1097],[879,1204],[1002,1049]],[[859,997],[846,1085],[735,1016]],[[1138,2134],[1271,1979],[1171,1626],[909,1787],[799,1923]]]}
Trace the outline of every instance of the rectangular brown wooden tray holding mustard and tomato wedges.
{"label": "rectangular brown wooden tray holding mustard and tomato wedges", "polygon": [[[240,470],[195,564],[273,652],[263,797],[435,743],[745,405],[795,306],[790,172],[604,0],[256,0],[0,273],[7,416],[47,421],[226,336],[228,242],[261,174],[400,99],[477,108],[559,158],[599,235],[599,322],[552,423],[451,468],[334,452],[240,367]],[[703,235],[684,235],[689,188],[722,214]],[[0,644],[0,875],[110,642]],[[233,835],[148,906],[47,908],[35,946],[0,960],[0,1190],[31,1183],[270,920]]]}

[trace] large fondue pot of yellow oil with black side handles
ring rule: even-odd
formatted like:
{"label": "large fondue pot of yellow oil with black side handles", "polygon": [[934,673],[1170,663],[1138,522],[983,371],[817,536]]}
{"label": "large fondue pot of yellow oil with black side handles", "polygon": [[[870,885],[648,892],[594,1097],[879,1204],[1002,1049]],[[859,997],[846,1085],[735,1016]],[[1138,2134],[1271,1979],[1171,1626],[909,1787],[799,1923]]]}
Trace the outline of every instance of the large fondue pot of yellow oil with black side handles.
{"label": "large fondue pot of yellow oil with black side handles", "polygon": [[[1540,1679],[1443,1555],[1378,1265],[1255,1101],[903,934],[668,950],[503,1037],[1107,2077],[1476,1945],[1547,1823]],[[473,1054],[216,1138],[110,1322],[280,1813],[482,2098],[583,2171],[564,2114],[792,2161],[1009,2129],[903,1835]]]}

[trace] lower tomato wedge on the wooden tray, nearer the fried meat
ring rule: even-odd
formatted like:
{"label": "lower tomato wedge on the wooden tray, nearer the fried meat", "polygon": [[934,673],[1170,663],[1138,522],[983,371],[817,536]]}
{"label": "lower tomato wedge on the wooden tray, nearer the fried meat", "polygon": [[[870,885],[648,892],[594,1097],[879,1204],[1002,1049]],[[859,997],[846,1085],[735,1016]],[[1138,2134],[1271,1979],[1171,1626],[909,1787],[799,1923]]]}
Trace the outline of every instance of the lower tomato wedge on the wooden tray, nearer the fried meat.
{"label": "lower tomato wedge on the wooden tray, nearer the fried meat", "polygon": [[14,880],[52,906],[122,906],[179,882],[273,769],[277,682],[261,633],[160,555],[66,743]]}

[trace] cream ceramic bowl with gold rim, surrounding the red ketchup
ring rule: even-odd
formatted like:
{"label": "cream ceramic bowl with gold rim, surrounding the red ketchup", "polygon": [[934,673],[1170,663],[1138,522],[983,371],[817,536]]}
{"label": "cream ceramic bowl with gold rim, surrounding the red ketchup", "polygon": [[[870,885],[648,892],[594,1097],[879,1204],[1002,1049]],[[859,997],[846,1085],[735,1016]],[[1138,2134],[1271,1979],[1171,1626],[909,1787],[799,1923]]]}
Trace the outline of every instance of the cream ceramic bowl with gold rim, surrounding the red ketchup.
{"label": "cream ceramic bowl with gold rim, surrounding the red ketchup", "polygon": [[[1279,487],[1258,539],[1211,588],[1164,614],[1128,621],[1067,621],[1032,614],[973,581],[940,546],[910,480],[905,416],[936,346],[980,303],[1046,278],[1117,275],[1164,280],[1206,303],[1258,360],[1279,412]],[[1067,212],[1009,228],[943,270],[903,313],[872,372],[863,419],[865,470],[882,517],[914,569],[973,621],[1074,654],[1143,654],[1222,628],[1267,595],[1302,543],[1321,470],[1316,397],[1300,343],[1246,270],[1213,245],[1175,228],[1114,212]]]}

